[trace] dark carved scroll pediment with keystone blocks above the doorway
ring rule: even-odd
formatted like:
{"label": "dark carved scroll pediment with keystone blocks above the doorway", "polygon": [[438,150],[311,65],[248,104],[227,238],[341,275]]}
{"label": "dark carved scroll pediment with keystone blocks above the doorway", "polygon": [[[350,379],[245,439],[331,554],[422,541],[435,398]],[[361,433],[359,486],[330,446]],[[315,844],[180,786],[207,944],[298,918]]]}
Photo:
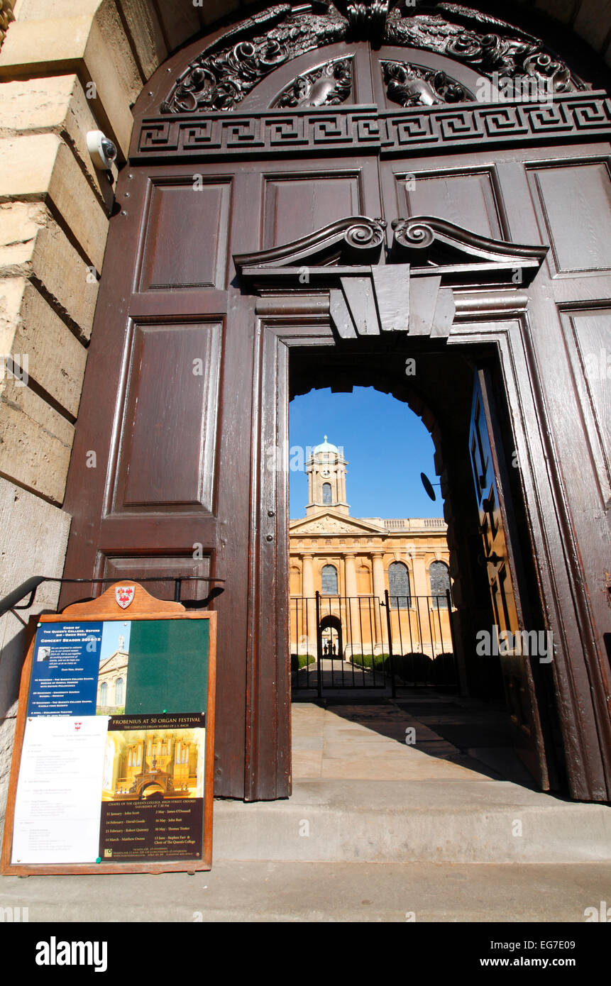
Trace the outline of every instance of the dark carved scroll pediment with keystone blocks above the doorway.
{"label": "dark carved scroll pediment with keystone blocks above the doorway", "polygon": [[456,312],[453,287],[529,284],[549,249],[414,216],[392,223],[392,245],[380,263],[385,227],[384,220],[352,216],[289,244],[234,255],[234,262],[239,277],[258,288],[328,289],[341,338],[384,332],[447,337]]}

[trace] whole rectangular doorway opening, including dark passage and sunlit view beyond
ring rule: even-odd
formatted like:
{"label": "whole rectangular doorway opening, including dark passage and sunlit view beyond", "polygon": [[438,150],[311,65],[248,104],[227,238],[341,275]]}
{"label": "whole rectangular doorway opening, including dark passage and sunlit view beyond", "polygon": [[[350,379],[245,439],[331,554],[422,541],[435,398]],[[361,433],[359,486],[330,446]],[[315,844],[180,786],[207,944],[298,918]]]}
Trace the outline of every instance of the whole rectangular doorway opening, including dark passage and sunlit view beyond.
{"label": "whole rectangular doorway opening, including dark passage and sunlit view beyond", "polygon": [[[445,741],[446,754],[449,749],[450,756],[479,759],[485,772],[492,771],[489,776],[496,772],[528,783],[526,768],[536,786],[555,786],[554,710],[545,669],[536,669],[528,695],[524,656],[517,656],[518,661],[512,654],[507,660],[494,645],[488,650],[478,646],[486,628],[494,636],[499,627],[509,625],[510,615],[500,611],[489,577],[491,559],[496,559],[503,579],[509,573],[490,541],[499,527],[491,503],[495,496],[501,498],[500,479],[495,479],[492,492],[482,487],[482,513],[477,483],[486,468],[480,462],[478,471],[470,456],[473,434],[479,435],[480,458],[482,435],[487,434],[477,431],[484,422],[482,397],[474,404],[474,393],[482,392],[478,367],[458,353],[422,352],[412,375],[407,359],[385,352],[379,343],[366,358],[362,346],[358,356],[347,349],[325,349],[324,359],[320,357],[312,349],[295,349],[290,360],[290,393],[297,397],[289,443],[291,495],[301,480],[302,508],[299,513],[293,499],[293,701],[316,698],[340,707],[347,695],[353,709],[355,702],[368,704],[375,696],[392,702],[410,719],[418,717],[425,729]],[[494,354],[483,354],[482,364],[492,382],[488,399],[496,380]],[[334,400],[338,415],[332,413]],[[495,402],[494,416],[494,454],[487,452],[489,486],[501,469],[498,455],[507,458],[501,442],[509,452],[512,448],[502,399]],[[492,420],[490,415],[487,420]],[[353,436],[351,449],[345,435],[350,442]],[[294,468],[300,457],[303,471]],[[362,471],[354,505],[351,477],[346,482],[348,460],[357,476]],[[523,562],[526,526],[519,482],[505,466],[503,461],[502,497],[511,511],[512,539],[503,550],[507,556],[519,556],[519,591],[528,596],[532,573]],[[438,484],[433,486],[434,502],[426,499],[420,472]],[[398,505],[384,506],[389,490],[399,494]],[[512,567],[509,574],[511,593],[517,597],[516,570]],[[501,582],[497,578],[494,584]],[[506,589],[505,583],[502,587]],[[505,610],[509,597],[513,600],[505,592]],[[533,598],[525,600],[524,613],[535,625],[540,614]],[[334,622],[338,639],[332,641]],[[333,644],[339,647],[340,635],[343,653],[335,655]],[[529,662],[528,674],[531,671]]]}

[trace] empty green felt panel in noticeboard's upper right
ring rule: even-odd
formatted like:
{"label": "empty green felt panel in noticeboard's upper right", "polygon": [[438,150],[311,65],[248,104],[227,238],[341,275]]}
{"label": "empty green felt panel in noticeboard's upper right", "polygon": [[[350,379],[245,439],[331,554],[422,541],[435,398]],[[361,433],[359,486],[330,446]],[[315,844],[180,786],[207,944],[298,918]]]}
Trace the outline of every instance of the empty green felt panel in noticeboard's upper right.
{"label": "empty green felt panel in noticeboard's upper right", "polygon": [[208,648],[207,619],[133,620],[125,715],[205,712]]}

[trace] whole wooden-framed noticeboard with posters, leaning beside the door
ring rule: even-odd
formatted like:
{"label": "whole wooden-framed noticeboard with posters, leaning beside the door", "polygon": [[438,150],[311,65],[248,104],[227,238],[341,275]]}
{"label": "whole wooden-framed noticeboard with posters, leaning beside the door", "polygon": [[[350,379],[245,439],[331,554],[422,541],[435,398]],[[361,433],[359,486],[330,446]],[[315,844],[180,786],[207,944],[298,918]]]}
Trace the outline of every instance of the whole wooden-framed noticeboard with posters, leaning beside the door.
{"label": "whole wooden-framed noticeboard with posters, leaning beside the door", "polygon": [[1,870],[209,870],[216,613],[134,582],[40,616],[22,672]]}

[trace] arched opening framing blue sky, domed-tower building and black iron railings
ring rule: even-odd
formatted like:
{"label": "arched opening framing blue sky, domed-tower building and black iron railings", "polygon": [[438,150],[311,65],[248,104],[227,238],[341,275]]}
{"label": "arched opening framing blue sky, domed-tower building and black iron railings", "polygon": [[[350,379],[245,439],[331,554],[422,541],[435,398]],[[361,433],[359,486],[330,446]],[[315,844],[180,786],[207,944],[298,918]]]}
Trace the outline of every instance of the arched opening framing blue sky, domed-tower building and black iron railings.
{"label": "arched opening framing blue sky, domed-tower building and black iron railings", "polygon": [[315,390],[292,402],[296,694],[390,688],[395,696],[408,684],[456,690],[443,503],[420,481],[434,474],[433,457],[420,418],[373,387]]}

